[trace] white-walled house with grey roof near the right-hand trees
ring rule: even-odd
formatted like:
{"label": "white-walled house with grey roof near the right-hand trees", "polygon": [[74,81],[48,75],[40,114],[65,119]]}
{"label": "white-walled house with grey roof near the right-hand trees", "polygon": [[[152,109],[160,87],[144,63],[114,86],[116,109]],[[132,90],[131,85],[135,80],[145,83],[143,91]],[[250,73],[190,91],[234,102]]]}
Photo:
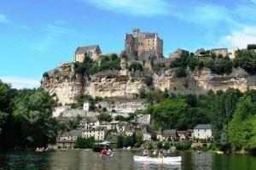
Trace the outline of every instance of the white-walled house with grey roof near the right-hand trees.
{"label": "white-walled house with grey roof near the right-hand trees", "polygon": [[194,127],[195,139],[212,139],[212,127],[210,124],[198,124]]}

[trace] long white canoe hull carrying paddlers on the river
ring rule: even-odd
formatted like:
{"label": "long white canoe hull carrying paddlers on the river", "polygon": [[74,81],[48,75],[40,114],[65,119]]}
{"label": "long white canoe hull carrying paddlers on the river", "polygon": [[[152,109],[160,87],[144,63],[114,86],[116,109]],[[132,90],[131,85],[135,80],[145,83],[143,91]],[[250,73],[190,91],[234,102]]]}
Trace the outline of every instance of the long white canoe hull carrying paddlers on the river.
{"label": "long white canoe hull carrying paddlers on the river", "polygon": [[182,160],[181,156],[177,157],[146,157],[146,156],[133,156],[134,161],[148,161],[153,163],[177,163]]}

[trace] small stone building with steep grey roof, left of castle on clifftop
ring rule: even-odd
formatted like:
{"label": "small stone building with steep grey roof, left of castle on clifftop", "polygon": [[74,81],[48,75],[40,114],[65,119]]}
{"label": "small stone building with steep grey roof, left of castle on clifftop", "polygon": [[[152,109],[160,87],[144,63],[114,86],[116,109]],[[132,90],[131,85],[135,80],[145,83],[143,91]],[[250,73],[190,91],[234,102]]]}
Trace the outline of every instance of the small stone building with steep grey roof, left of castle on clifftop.
{"label": "small stone building with steep grey roof, left of castle on clifftop", "polygon": [[102,54],[102,51],[99,45],[78,47],[74,52],[74,61],[83,62],[85,56],[89,56],[93,60],[98,60],[100,54]]}

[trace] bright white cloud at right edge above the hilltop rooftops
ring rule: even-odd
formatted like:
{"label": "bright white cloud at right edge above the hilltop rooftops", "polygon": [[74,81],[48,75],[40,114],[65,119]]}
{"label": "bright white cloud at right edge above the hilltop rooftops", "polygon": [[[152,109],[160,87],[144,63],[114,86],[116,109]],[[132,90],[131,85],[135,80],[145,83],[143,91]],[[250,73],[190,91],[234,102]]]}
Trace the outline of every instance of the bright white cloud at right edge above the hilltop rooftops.
{"label": "bright white cloud at right edge above the hilltop rooftops", "polygon": [[233,31],[230,35],[222,37],[220,43],[229,47],[246,48],[247,44],[256,43],[256,26]]}

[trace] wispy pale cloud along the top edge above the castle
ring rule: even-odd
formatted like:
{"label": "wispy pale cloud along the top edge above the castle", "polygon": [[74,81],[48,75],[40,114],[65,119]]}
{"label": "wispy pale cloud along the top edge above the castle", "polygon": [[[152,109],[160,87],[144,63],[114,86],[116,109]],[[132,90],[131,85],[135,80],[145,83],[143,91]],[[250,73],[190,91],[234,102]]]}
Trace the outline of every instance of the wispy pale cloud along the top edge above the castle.
{"label": "wispy pale cloud along the top edge above the castle", "polygon": [[83,0],[98,8],[131,15],[154,16],[169,14],[171,5],[166,0]]}

